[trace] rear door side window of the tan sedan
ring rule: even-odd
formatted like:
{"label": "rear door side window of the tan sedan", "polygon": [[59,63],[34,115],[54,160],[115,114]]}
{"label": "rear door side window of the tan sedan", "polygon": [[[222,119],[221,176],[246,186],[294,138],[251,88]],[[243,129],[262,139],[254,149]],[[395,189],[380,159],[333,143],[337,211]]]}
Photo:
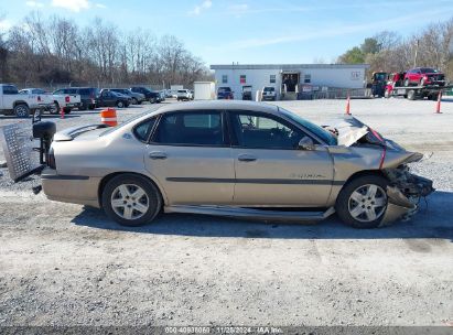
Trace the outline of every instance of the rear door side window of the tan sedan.
{"label": "rear door side window of the tan sedan", "polygon": [[154,136],[154,142],[171,145],[224,144],[220,111],[185,111],[163,115]]}

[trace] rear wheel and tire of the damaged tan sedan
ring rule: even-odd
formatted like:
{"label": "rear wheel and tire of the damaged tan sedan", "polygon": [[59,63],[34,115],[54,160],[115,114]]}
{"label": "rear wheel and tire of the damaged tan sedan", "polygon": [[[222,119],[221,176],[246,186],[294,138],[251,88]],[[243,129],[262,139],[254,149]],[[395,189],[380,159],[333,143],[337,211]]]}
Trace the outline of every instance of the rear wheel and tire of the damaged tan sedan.
{"label": "rear wheel and tire of the damaged tan sedan", "polygon": [[120,225],[137,227],[154,219],[162,207],[162,197],[147,177],[126,173],[107,183],[101,203],[108,217]]}

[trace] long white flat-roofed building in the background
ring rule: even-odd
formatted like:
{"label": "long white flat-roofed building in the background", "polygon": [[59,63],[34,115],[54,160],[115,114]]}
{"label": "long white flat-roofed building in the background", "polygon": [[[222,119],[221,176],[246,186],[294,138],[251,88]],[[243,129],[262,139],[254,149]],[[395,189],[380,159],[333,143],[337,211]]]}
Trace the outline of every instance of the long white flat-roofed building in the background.
{"label": "long white flat-roofed building in the background", "polygon": [[284,94],[289,99],[311,88],[364,88],[368,67],[368,64],[211,65],[215,71],[216,90],[228,86],[235,99],[241,99],[244,86],[251,86],[254,97],[265,86],[273,86],[279,97]]}

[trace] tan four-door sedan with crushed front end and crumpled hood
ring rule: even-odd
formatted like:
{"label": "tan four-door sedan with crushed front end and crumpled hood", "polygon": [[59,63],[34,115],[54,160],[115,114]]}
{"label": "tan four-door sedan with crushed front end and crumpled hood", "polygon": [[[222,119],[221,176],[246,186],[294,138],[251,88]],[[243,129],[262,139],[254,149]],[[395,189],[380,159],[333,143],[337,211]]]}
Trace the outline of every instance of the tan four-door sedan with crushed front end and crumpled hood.
{"label": "tan four-door sedan with crushed front end and crumpled hood", "polygon": [[169,104],[107,130],[57,132],[43,190],[127,226],[150,223],[162,208],[283,221],[336,210],[356,228],[413,215],[434,191],[409,173],[422,154],[350,116],[339,126],[251,101]]}

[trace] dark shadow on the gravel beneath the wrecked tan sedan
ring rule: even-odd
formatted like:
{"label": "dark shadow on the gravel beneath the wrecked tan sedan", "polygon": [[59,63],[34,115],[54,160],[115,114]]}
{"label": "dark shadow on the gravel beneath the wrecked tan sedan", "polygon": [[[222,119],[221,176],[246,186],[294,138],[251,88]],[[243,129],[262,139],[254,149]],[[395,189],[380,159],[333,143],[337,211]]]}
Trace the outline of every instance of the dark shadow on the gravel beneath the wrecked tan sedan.
{"label": "dark shadow on the gravel beneath the wrecked tan sedan", "polygon": [[379,229],[354,229],[341,223],[336,215],[312,224],[281,224],[231,219],[192,214],[161,214],[142,227],[123,227],[110,220],[103,210],[84,207],[72,223],[138,234],[198,237],[277,238],[277,239],[389,239],[435,238],[453,241],[452,192],[436,192],[422,202],[420,212],[408,221],[397,221]]}

